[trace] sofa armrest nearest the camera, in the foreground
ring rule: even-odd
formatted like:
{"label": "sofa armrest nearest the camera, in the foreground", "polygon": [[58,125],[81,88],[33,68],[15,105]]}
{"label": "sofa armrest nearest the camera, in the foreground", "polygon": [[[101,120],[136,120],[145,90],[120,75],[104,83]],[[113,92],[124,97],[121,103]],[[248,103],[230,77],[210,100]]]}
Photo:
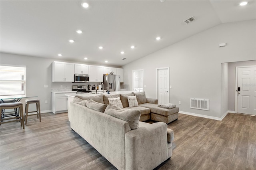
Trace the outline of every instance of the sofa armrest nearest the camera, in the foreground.
{"label": "sofa armrest nearest the camera, in the foreground", "polygon": [[154,169],[168,158],[167,124],[140,125],[125,134],[126,170]]}

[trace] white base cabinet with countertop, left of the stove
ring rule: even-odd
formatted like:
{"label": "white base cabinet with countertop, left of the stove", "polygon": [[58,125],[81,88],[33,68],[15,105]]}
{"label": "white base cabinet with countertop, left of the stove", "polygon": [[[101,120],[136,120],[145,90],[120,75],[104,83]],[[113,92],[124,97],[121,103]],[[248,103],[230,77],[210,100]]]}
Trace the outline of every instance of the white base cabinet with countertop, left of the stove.
{"label": "white base cabinet with countertop, left of the stove", "polygon": [[54,114],[56,113],[64,113],[68,111],[68,97],[65,96],[66,94],[68,95],[73,95],[75,96],[76,93],[55,93],[52,92],[52,112]]}

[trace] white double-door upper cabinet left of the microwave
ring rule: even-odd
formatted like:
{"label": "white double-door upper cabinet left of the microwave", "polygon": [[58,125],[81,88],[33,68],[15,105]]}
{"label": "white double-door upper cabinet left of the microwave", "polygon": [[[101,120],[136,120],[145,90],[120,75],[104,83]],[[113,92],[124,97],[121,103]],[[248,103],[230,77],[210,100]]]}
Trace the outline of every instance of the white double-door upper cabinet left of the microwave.
{"label": "white double-door upper cabinet left of the microwave", "polygon": [[54,61],[52,63],[52,81],[54,82],[73,82],[75,64]]}

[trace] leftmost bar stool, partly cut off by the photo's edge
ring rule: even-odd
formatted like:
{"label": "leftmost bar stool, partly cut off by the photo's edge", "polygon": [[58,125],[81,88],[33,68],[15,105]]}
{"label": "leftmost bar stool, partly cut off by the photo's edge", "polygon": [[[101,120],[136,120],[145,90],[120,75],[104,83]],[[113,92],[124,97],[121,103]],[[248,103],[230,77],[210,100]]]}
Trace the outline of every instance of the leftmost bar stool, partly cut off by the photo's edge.
{"label": "leftmost bar stool, partly cut off by the photo's edge", "polygon": [[[2,114],[4,114],[4,109],[15,109],[15,110],[17,110],[18,114],[13,115],[14,117],[3,118]],[[20,121],[20,125],[22,125],[23,128],[24,128],[23,105],[22,105],[21,102],[1,103],[0,104],[0,111],[1,111],[1,123],[0,123],[0,125],[2,125],[3,123]],[[19,112],[20,112],[20,114],[19,114]],[[15,120],[8,121],[8,120],[11,120],[11,119],[15,119]]]}

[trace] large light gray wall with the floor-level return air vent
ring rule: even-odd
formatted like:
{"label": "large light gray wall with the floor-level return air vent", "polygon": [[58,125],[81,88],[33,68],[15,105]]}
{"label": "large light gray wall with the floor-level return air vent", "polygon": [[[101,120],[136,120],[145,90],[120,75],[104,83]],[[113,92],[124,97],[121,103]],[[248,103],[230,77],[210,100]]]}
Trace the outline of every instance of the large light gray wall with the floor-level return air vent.
{"label": "large light gray wall with the floor-level return air vent", "polygon": [[[144,69],[146,96],[155,98],[156,68],[170,67],[170,103],[181,101],[180,111],[220,118],[227,108],[221,109],[221,63],[255,59],[255,24],[220,24],[124,65],[124,87],[132,89],[132,70]],[[226,47],[218,47],[224,42]],[[210,111],[190,109],[190,97],[210,99]]]}

